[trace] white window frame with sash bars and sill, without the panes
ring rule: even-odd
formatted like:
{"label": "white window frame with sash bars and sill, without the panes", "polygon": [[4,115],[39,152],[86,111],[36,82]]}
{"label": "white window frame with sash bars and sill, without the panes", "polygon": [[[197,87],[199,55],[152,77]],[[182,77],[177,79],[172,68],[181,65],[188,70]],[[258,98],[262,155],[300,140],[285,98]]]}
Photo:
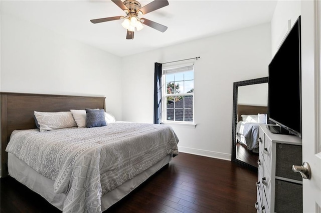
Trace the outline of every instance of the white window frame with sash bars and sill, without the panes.
{"label": "white window frame with sash bars and sill, without the panes", "polygon": [[[192,69],[190,70],[181,70],[180,69],[184,69],[184,68],[188,68],[192,66]],[[171,70],[172,71],[169,71]],[[194,99],[195,99],[195,94],[194,91],[191,93],[173,93],[173,94],[168,94],[167,93],[167,82],[166,82],[166,75],[167,74],[171,74],[171,73],[180,73],[180,72],[185,72],[185,71],[193,71],[193,89],[195,87],[195,70],[194,70],[194,64],[193,63],[185,63],[185,64],[179,64],[176,66],[165,66],[162,67],[162,111],[161,111],[161,123],[164,124],[180,124],[180,125],[191,125],[191,126],[196,126],[195,124],[195,104],[194,104]],[[178,81],[190,81],[192,79],[189,80],[178,80]],[[174,81],[177,82],[177,81]],[[193,97],[193,101],[192,101],[192,111],[193,111],[193,121],[185,121],[185,102],[183,102],[183,108],[178,108],[178,109],[183,109],[183,120],[168,120],[167,119],[167,97],[168,96],[192,96]],[[176,107],[173,108],[174,109],[174,114],[175,114],[175,109],[177,109]],[[175,119],[175,115],[174,115],[174,119]]]}

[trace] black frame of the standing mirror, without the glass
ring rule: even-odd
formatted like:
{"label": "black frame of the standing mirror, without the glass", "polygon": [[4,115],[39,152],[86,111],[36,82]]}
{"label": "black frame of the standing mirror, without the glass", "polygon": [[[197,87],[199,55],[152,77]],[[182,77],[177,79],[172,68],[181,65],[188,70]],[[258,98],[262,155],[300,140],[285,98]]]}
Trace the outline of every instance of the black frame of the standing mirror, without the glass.
{"label": "black frame of the standing mirror, without the glass", "polygon": [[236,158],[237,92],[238,92],[239,86],[252,85],[252,84],[258,84],[258,83],[268,83],[268,77],[260,77],[260,78],[243,80],[243,81],[238,81],[233,83],[233,120],[232,120],[232,153],[231,153],[232,158],[231,160],[232,162],[238,165],[241,165],[243,167],[246,167],[254,171],[257,171],[258,168]]}

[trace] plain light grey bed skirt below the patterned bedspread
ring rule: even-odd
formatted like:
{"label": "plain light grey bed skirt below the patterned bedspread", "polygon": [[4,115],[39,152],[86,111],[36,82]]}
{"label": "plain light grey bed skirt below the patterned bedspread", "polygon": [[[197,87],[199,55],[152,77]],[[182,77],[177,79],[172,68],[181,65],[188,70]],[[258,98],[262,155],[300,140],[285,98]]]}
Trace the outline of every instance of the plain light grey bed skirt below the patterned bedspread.
{"label": "plain light grey bed skirt below the patterned bedspread", "polygon": [[[136,175],[132,179],[124,182],[117,188],[104,194],[101,198],[101,210],[104,211],[111,205],[119,201],[121,198],[135,189],[138,185],[144,182],[148,177],[161,169],[164,165],[168,164],[171,160],[172,154],[168,154],[150,168]],[[16,180],[29,187],[31,190],[40,194],[58,209],[63,209],[66,195],[64,193],[54,192],[54,181],[52,179],[49,179],[36,172],[33,168],[18,159],[12,153],[8,153],[8,170],[10,176],[14,177]]]}

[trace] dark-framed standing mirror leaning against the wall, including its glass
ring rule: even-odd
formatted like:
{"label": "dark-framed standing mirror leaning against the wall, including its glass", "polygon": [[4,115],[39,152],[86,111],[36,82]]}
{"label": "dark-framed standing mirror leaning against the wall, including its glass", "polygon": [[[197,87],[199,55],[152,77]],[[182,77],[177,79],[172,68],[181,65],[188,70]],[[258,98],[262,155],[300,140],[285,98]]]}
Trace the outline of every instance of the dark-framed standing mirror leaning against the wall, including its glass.
{"label": "dark-framed standing mirror leaning against the wall, including its glass", "polygon": [[232,162],[257,170],[259,123],[267,123],[268,77],[234,82]]}

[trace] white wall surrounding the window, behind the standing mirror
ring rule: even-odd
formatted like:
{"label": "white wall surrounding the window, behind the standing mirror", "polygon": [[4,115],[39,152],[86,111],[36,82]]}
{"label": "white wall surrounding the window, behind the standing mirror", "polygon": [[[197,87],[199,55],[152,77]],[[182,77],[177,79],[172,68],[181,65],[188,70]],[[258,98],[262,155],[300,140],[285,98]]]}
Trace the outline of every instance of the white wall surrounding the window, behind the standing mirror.
{"label": "white wall surrounding the window, behind the standing mirror", "polygon": [[122,118],[153,122],[154,62],[195,61],[196,128],[173,126],[181,151],[231,158],[233,82],[268,75],[270,24],[122,58]]}

